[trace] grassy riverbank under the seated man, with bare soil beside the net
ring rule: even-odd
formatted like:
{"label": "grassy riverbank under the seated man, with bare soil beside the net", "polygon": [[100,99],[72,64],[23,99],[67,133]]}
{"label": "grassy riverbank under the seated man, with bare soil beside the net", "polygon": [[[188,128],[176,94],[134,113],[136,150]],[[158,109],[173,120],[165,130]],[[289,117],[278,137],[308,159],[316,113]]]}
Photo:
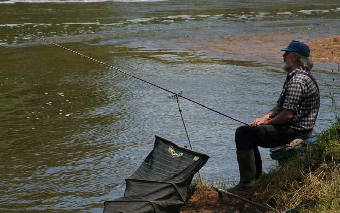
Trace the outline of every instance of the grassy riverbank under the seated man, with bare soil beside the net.
{"label": "grassy riverbank under the seated man, with bare soil beside the net", "polygon": [[[340,122],[317,138],[317,145],[263,174],[254,189],[240,195],[282,211],[340,212]],[[192,187],[196,190],[182,212],[270,212],[231,197],[221,202],[207,185],[212,184]]]}

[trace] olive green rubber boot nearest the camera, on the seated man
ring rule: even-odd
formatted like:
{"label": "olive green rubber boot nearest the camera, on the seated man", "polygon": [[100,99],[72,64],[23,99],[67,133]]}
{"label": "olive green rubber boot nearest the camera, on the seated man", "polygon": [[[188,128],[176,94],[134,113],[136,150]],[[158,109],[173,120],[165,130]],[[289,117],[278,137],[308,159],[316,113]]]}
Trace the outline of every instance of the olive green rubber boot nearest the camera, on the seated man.
{"label": "olive green rubber boot nearest the camera, on the seated man", "polygon": [[255,185],[255,156],[254,150],[237,150],[237,162],[239,162],[240,182],[227,191],[242,191]]}

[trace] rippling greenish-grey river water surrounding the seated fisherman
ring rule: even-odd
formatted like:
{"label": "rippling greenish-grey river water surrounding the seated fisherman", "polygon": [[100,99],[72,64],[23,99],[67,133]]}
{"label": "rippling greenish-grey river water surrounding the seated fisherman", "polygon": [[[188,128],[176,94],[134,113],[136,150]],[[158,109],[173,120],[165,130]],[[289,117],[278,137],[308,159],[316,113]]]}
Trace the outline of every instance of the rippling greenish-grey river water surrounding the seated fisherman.
{"label": "rippling greenish-grey river water surrounding the seated fisherman", "polygon": [[[250,122],[275,104],[292,39],[338,34],[338,1],[0,1],[0,212],[101,212],[152,150],[188,145],[167,92],[38,41],[79,51]],[[321,109],[337,64],[314,63]],[[335,92],[338,87],[335,87]],[[335,100],[339,98],[338,92]],[[180,99],[207,181],[238,179],[240,123]],[[265,170],[276,163],[261,149]]]}

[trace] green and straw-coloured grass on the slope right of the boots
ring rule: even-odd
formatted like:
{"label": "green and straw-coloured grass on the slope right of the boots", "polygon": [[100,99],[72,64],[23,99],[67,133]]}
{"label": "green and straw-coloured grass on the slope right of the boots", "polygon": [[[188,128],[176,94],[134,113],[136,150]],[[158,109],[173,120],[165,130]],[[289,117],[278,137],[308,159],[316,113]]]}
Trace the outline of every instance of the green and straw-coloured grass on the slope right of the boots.
{"label": "green and straw-coloured grass on the slope right of the boots", "polygon": [[318,145],[298,154],[258,181],[254,200],[298,212],[339,212],[340,123],[318,135]]}

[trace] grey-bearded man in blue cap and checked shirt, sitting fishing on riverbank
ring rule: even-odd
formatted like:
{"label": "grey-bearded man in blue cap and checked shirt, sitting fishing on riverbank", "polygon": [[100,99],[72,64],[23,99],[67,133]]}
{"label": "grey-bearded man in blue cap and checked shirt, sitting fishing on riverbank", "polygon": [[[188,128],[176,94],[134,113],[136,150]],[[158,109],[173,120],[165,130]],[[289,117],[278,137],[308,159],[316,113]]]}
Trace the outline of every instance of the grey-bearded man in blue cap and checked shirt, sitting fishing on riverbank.
{"label": "grey-bearded man in blue cap and checked shirt, sitting fishing on riverbank", "polygon": [[262,174],[262,161],[257,146],[273,148],[289,144],[296,138],[311,136],[317,118],[320,96],[318,84],[310,73],[309,47],[292,41],[283,56],[283,69],[288,72],[277,104],[261,118],[237,128],[235,134],[240,182],[230,191],[251,188]]}

